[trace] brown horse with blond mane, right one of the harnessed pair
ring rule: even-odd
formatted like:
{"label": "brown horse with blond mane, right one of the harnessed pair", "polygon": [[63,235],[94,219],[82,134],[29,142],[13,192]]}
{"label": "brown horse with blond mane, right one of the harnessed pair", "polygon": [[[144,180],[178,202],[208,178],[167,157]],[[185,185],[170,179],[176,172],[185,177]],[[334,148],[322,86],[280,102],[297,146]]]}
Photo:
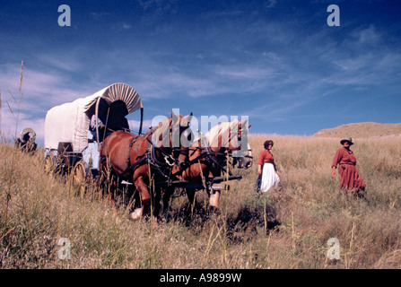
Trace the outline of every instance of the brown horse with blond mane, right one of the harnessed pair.
{"label": "brown horse with blond mane, right one of the harnessed pair", "polygon": [[[203,138],[189,147],[190,165],[182,173],[182,179],[191,185],[204,186],[205,180],[222,176],[227,166],[227,154],[240,169],[252,166],[253,157],[248,143],[248,127],[244,121],[232,121],[214,126]],[[245,132],[245,133],[244,133]],[[245,137],[245,138],[244,138]],[[245,139],[245,141],[243,141]],[[241,144],[246,144],[246,148]],[[207,190],[207,189],[206,189]],[[189,204],[194,203],[196,188],[186,188]],[[208,191],[209,192],[209,191]],[[212,208],[219,207],[220,192],[209,194]]]}

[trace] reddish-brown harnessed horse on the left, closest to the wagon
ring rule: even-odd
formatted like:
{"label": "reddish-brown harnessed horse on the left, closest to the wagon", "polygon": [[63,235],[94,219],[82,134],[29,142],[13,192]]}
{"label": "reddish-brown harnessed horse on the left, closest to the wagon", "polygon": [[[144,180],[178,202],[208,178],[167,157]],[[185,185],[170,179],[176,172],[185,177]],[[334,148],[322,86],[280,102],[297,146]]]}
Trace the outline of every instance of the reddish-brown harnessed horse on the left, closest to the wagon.
{"label": "reddish-brown harnessed horse on the left, closest to the wagon", "polygon": [[[187,149],[173,142],[174,138],[179,137],[187,129],[191,118],[192,113],[187,117],[173,114],[145,135],[138,136],[118,131],[106,137],[101,144],[102,181],[108,178],[108,174],[114,179],[132,180],[139,193],[142,206],[130,214],[132,220],[140,219],[150,210],[152,198],[148,187],[151,177],[155,180],[166,180],[170,174],[179,172],[185,165],[188,157]],[[113,187],[117,184],[115,180],[112,181]],[[155,191],[157,193],[157,189]],[[156,200],[160,198],[159,196],[155,195]],[[109,191],[108,199],[111,200],[115,210],[112,191]],[[157,215],[158,210],[155,208],[153,214]]]}

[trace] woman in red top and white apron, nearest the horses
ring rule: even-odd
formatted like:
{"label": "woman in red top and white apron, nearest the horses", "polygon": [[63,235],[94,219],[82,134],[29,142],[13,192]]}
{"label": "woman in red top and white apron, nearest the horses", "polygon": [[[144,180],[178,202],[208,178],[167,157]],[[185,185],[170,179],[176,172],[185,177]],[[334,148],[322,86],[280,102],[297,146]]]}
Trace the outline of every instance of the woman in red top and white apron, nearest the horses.
{"label": "woman in red top and white apron, nearest the horses", "polygon": [[280,172],[275,167],[275,157],[270,152],[273,148],[273,141],[264,143],[265,149],[259,153],[257,160],[257,173],[262,175],[260,191],[266,192],[271,187],[275,187],[280,182]]}

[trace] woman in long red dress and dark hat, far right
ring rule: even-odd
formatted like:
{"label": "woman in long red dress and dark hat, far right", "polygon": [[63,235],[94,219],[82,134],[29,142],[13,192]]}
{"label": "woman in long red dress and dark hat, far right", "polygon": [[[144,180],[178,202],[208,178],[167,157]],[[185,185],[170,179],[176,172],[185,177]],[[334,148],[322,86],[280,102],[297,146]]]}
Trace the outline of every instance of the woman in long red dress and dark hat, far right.
{"label": "woman in long red dress and dark hat, far right", "polygon": [[336,167],[339,165],[338,173],[340,174],[341,182],[338,193],[341,193],[345,189],[356,196],[365,189],[366,185],[356,169],[356,158],[350,150],[350,146],[353,145],[353,139],[345,137],[340,143],[343,144],[343,147],[336,152],[333,164],[331,165],[331,177],[334,178],[336,176]]}

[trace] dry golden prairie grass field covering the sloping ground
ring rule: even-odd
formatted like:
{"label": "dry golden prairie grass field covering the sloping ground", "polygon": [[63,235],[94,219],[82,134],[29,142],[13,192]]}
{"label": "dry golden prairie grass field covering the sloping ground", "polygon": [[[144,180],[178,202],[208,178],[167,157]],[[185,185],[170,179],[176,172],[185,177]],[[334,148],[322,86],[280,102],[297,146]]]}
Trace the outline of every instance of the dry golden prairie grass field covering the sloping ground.
{"label": "dry golden prairie grass field covering the sloping ground", "polygon": [[[266,139],[281,182],[254,189],[257,156]],[[254,165],[232,170],[242,179],[222,191],[218,213],[205,191],[187,216],[187,197],[171,199],[167,213],[128,220],[126,198],[118,218],[92,185],[83,193],[68,177],[43,170],[34,155],[0,144],[1,268],[401,268],[401,136],[354,138],[352,150],[367,187],[364,198],[339,195],[331,163],[340,138],[250,135]],[[339,257],[329,258],[328,239]],[[58,255],[70,242],[69,260]]]}

